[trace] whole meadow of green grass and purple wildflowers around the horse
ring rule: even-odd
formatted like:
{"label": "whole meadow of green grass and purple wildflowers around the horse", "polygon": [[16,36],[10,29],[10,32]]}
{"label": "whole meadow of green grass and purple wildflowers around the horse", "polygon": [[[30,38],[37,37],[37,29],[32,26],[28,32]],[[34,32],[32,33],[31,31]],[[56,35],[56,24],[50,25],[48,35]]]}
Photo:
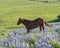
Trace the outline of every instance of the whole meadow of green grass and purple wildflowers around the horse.
{"label": "whole meadow of green grass and purple wildflowers around the horse", "polygon": [[[60,48],[60,1],[0,0],[0,48]],[[19,18],[43,18],[52,27],[44,26],[26,34]]]}

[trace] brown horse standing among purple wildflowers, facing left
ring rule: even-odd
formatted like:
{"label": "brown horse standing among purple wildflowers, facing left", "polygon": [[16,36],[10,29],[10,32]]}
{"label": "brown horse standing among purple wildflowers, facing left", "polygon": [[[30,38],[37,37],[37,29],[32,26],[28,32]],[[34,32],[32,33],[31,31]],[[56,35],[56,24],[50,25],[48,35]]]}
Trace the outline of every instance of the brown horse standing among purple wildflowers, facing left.
{"label": "brown horse standing among purple wildflowers, facing left", "polygon": [[30,29],[36,28],[36,27],[40,27],[40,31],[42,31],[42,29],[44,30],[44,24],[47,26],[51,26],[49,24],[47,24],[46,21],[44,21],[42,18],[37,18],[35,20],[26,20],[26,19],[21,19],[19,18],[17,25],[23,23],[27,29],[27,33],[29,33]]}

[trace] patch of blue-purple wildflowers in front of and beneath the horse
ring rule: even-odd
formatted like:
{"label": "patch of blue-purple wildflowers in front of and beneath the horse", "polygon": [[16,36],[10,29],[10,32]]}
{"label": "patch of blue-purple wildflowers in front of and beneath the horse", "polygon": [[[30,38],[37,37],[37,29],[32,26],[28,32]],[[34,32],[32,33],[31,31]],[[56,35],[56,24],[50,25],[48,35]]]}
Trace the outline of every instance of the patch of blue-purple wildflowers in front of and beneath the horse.
{"label": "patch of blue-purple wildflowers in front of and beneath the horse", "polygon": [[6,38],[0,38],[0,48],[60,48],[60,25],[53,24],[52,28],[45,26],[45,31],[39,28],[26,34],[26,29],[15,29]]}

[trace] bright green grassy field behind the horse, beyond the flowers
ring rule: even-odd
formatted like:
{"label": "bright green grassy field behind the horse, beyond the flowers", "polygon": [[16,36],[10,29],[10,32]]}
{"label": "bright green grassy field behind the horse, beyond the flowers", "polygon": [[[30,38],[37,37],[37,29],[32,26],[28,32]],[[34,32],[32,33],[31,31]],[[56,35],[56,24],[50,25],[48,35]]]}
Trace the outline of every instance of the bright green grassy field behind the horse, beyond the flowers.
{"label": "bright green grassy field behind the horse, beyond the flowers", "polygon": [[38,17],[46,21],[57,19],[60,2],[36,2],[27,0],[0,0],[0,34],[22,27],[17,26],[18,18],[34,20]]}

